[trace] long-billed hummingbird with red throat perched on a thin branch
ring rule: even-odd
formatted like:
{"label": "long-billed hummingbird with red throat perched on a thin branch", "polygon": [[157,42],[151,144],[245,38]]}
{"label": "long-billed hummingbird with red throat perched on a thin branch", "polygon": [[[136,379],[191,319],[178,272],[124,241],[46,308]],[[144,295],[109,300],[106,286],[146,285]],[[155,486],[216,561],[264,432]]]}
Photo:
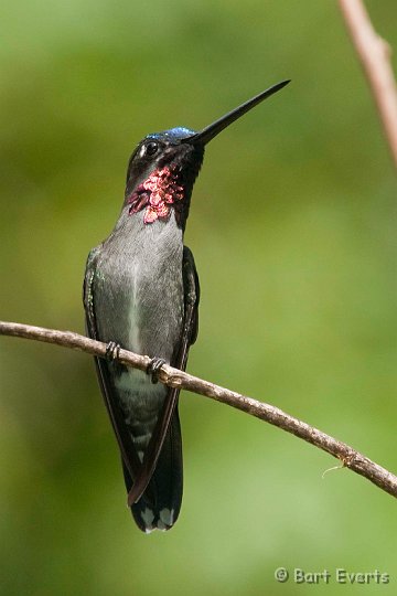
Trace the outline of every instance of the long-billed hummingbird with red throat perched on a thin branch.
{"label": "long-billed hummingbird with red throat perched on a thin branch", "polygon": [[[111,234],[87,258],[83,301],[121,456],[128,507],[140,530],[170,530],[182,501],[179,389],[158,383],[164,363],[185,370],[198,330],[200,285],[184,231],[204,149],[224,128],[285,87],[282,81],[201,131],[176,127],[144,137],[128,163],[125,200]],[[149,355],[148,371],[118,351]]]}

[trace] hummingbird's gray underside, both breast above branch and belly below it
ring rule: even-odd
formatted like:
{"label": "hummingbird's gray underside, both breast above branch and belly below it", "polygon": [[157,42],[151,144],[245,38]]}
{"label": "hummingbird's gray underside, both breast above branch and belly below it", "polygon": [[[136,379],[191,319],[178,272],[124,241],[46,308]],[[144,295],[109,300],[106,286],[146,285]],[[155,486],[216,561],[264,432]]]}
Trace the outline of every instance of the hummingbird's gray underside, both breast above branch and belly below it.
{"label": "hummingbird's gray underside, both breast above branch and belly below it", "polygon": [[[172,361],[183,324],[182,232],[170,220],[143,224],[142,212],[121,215],[103,244],[94,281],[98,339]],[[167,389],[141,371],[111,370],[126,422],[144,450]]]}

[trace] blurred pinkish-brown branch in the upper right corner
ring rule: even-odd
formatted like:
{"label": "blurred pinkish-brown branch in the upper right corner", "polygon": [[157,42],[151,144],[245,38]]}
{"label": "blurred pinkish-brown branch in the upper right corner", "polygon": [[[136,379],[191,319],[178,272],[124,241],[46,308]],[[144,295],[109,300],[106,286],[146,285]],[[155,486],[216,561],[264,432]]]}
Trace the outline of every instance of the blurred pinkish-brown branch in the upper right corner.
{"label": "blurred pinkish-brown branch in the upper right corner", "polygon": [[397,86],[390,65],[390,47],[374,30],[362,0],[339,0],[339,3],[369,82],[397,167]]}

